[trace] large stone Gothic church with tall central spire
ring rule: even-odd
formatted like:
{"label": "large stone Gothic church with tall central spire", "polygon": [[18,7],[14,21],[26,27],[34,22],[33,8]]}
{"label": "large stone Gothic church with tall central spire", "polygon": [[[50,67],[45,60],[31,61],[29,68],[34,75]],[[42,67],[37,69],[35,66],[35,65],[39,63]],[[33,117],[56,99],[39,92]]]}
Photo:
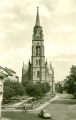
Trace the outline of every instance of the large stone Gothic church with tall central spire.
{"label": "large stone Gothic church with tall central spire", "polygon": [[27,69],[23,62],[22,81],[26,79],[33,83],[48,82],[51,86],[51,94],[55,94],[54,69],[51,62],[48,64],[47,59],[45,60],[44,49],[43,29],[40,25],[39,9],[37,7],[36,23],[32,35],[31,62],[29,60]]}

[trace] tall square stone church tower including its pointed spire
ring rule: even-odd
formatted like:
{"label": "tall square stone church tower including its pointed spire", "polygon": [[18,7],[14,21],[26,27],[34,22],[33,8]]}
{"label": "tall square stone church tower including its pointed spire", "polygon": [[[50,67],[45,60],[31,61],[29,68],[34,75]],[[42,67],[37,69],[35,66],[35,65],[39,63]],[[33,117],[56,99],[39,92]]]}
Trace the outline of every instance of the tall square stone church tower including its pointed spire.
{"label": "tall square stone church tower including its pointed spire", "polygon": [[33,83],[45,82],[44,39],[43,30],[40,26],[38,7],[32,36],[31,80]]}

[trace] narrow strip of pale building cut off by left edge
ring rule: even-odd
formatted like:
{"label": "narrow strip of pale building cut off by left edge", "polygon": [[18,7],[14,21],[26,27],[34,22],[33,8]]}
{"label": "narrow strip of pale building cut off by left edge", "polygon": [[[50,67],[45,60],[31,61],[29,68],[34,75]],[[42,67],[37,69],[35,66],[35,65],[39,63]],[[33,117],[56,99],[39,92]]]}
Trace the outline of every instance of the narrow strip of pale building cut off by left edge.
{"label": "narrow strip of pale building cut off by left edge", "polygon": [[0,120],[1,120],[1,103],[3,100],[3,78],[4,74],[0,73]]}

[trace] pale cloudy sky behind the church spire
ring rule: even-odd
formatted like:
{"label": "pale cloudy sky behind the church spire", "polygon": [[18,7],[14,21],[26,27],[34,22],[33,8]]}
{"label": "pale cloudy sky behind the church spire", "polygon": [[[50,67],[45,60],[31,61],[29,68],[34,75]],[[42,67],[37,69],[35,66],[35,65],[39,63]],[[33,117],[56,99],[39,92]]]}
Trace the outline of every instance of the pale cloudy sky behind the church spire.
{"label": "pale cloudy sky behind the church spire", "polygon": [[52,62],[55,81],[62,81],[76,65],[76,0],[0,0],[0,66],[21,79],[23,61],[31,58],[37,6],[45,58]]}

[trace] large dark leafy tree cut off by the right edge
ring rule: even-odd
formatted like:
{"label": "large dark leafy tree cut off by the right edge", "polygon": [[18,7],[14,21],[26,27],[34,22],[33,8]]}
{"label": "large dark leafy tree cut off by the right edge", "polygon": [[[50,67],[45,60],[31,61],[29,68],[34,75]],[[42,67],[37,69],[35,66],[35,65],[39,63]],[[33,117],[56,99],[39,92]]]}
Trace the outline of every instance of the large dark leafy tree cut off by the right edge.
{"label": "large dark leafy tree cut off by the right edge", "polygon": [[76,66],[72,65],[70,75],[65,79],[64,88],[68,94],[72,94],[76,98]]}

